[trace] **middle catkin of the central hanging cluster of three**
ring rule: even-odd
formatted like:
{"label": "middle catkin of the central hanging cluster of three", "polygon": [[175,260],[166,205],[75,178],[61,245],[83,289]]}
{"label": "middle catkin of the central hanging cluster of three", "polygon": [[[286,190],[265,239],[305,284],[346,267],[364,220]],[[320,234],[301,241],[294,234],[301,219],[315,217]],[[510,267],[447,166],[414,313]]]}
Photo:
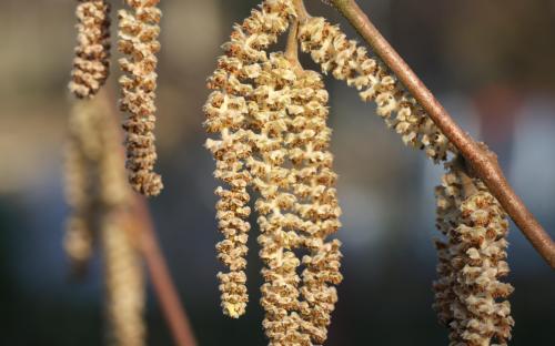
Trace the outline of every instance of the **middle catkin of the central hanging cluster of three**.
{"label": "middle catkin of the central hanging cluster of three", "polygon": [[302,236],[296,232],[302,220],[295,213],[294,176],[284,165],[289,159],[284,138],[290,123],[287,106],[296,78],[282,53],[271,53],[255,79],[252,104],[256,109],[252,112],[254,150],[248,166],[260,193],[255,210],[260,215],[258,241],[264,263],[261,305],[265,311],[264,330],[274,346],[310,345],[297,312],[301,278],[296,269],[301,261],[293,253],[302,246]]}

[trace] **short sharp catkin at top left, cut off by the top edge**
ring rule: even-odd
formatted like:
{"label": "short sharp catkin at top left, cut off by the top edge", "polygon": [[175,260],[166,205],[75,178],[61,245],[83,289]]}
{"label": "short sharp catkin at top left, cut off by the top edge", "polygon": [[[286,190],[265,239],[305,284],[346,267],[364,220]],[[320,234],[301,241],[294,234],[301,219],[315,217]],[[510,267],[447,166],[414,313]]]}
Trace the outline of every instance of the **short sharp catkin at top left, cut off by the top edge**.
{"label": "short sharp catkin at top left, cut off by the top edge", "polygon": [[70,91],[79,99],[92,98],[110,70],[110,4],[105,0],[78,0],[78,43]]}

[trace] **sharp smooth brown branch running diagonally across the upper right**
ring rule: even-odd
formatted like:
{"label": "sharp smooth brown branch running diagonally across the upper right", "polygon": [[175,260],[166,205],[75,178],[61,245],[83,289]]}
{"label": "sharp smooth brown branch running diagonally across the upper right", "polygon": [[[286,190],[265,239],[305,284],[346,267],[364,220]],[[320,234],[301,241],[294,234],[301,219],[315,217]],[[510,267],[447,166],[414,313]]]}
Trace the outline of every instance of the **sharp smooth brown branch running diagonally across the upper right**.
{"label": "sharp smooth brown branch running diagonally across the upper right", "polygon": [[390,67],[430,118],[450,139],[451,143],[466,159],[472,173],[484,181],[491,193],[500,201],[539,255],[544,257],[552,268],[555,268],[555,243],[513,191],[503,174],[496,155],[487,147],[480,145],[455,123],[354,0],[331,0],[331,2],[356,29],[366,43],[374,49],[385,64]]}

